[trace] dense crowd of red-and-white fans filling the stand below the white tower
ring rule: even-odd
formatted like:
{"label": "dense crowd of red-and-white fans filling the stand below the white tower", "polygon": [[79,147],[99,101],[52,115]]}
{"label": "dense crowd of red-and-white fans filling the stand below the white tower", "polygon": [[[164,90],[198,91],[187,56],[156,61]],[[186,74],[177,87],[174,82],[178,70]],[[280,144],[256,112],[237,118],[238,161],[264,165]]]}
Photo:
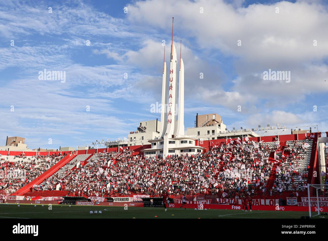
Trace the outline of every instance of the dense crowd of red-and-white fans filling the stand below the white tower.
{"label": "dense crowd of red-and-white fans filling the stand below the white tower", "polygon": [[[174,154],[166,160],[160,156],[134,155],[128,149],[97,153],[86,165],[68,170],[64,178],[52,175],[46,185],[39,185],[35,190],[56,190],[60,184],[63,191],[87,196],[130,195],[131,192],[157,196],[163,190],[169,194],[226,192],[230,197],[266,194],[274,165],[269,155],[277,150],[280,145],[275,143],[228,139],[210,147],[206,153]],[[293,153],[284,163],[297,160]]]}

